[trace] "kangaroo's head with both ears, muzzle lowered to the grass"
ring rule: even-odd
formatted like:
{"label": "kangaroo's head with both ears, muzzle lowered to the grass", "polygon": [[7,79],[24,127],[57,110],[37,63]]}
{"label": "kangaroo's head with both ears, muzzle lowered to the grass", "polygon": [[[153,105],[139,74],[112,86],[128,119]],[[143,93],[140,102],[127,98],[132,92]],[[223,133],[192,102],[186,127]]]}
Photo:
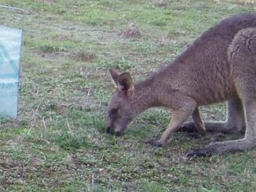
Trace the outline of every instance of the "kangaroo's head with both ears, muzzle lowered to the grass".
{"label": "kangaroo's head with both ears, muzzle lowered to the grass", "polygon": [[117,74],[109,70],[116,85],[116,91],[108,103],[107,132],[120,136],[136,116],[133,107],[133,81],[130,73]]}

